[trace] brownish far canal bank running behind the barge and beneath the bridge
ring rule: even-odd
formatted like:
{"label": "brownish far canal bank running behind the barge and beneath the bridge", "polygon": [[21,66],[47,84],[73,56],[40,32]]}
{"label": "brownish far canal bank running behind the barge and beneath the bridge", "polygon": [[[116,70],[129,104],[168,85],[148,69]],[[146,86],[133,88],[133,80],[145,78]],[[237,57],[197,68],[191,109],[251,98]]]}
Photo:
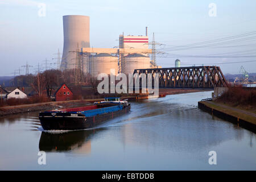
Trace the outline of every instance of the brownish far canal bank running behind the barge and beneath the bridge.
{"label": "brownish far canal bank running behind the barge and beneath the bridge", "polygon": [[[165,97],[166,95],[171,94],[181,94],[181,93],[192,93],[192,92],[202,92],[205,90],[197,89],[159,89],[158,97]],[[129,100],[144,100],[148,98],[153,98],[154,95],[141,94],[137,96],[125,96],[121,97],[122,99]],[[20,114],[27,113],[30,111],[40,111],[40,110],[51,110],[51,109],[61,109],[62,107],[78,107],[86,104],[92,104],[93,102],[104,101],[104,98],[92,98],[85,100],[72,100],[72,101],[52,101],[52,102],[43,102],[38,104],[25,104],[25,105],[16,105],[16,106],[3,106],[0,107],[0,117],[10,114]]]}

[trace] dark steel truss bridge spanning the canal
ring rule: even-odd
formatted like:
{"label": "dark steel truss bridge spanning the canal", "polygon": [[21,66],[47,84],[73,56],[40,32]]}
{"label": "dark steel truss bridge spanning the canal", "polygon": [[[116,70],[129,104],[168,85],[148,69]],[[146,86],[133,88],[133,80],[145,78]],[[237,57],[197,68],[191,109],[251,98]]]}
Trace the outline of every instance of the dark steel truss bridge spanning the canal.
{"label": "dark steel truss bridge spanning the canal", "polygon": [[[228,86],[220,67],[214,66],[134,69],[135,73],[139,76],[144,73],[146,77],[149,73],[154,77],[158,74],[159,88],[213,89],[217,86]],[[152,79],[152,85],[154,85],[154,79]]]}

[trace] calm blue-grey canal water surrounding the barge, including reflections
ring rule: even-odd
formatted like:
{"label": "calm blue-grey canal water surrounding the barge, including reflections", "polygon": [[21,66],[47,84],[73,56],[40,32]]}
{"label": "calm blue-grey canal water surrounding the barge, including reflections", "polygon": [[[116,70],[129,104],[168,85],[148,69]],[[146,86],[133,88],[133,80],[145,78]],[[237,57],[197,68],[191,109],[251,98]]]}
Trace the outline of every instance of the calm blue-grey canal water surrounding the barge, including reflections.
{"label": "calm blue-grey canal water surrounding the barge, including reflections", "polygon": [[[0,119],[0,169],[256,169],[256,135],[197,109],[211,92],[132,102],[97,129],[40,131],[38,113]],[[39,129],[38,129],[39,127]],[[46,165],[38,152],[46,151]],[[217,165],[209,165],[209,151]]]}

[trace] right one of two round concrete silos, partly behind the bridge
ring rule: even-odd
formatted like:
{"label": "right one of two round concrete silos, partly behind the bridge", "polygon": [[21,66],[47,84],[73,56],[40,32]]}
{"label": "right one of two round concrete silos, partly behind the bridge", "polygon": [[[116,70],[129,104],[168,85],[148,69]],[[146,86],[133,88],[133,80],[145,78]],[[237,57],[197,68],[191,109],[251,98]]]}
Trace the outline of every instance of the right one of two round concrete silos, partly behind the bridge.
{"label": "right one of two round concrete silos, partly behind the bridge", "polygon": [[150,58],[139,53],[129,54],[124,56],[124,63],[122,66],[122,73],[133,73],[134,69],[150,68]]}

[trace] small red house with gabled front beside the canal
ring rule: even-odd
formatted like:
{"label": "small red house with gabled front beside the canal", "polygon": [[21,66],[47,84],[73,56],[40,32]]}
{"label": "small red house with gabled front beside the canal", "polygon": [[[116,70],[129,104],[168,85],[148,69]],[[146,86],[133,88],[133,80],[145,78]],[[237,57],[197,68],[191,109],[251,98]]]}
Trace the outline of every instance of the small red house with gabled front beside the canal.
{"label": "small red house with gabled front beside the canal", "polygon": [[66,84],[62,84],[55,92],[55,101],[73,100],[73,92]]}

